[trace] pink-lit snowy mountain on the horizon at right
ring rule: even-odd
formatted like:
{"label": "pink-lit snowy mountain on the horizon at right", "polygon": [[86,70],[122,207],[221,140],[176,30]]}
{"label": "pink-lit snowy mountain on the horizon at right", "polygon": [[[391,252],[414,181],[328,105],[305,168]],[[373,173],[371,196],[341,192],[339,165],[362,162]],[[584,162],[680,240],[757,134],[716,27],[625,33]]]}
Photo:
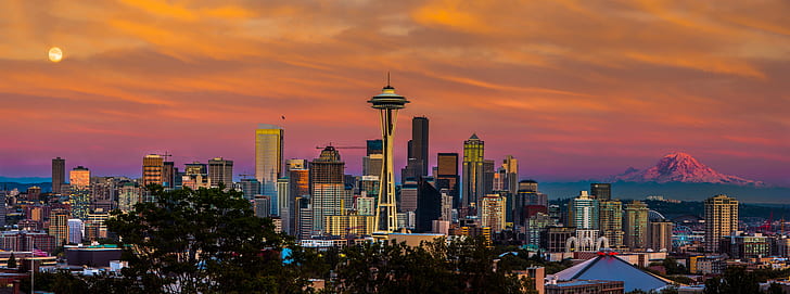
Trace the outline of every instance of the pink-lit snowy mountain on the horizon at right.
{"label": "pink-lit snowy mountain on the horizon at right", "polygon": [[647,169],[639,170],[629,167],[625,172],[614,176],[612,181],[658,183],[693,182],[765,187],[765,182],[762,181],[721,174],[683,152],[667,154],[655,166]]}

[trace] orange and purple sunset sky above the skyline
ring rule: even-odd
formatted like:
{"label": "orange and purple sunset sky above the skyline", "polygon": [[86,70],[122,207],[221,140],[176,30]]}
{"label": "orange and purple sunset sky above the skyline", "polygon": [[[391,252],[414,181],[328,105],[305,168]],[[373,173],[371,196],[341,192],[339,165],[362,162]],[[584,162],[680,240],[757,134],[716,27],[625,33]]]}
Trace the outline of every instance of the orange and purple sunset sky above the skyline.
{"label": "orange and purple sunset sky above the skyline", "polygon": [[[342,2],[342,3],[336,3]],[[790,184],[788,1],[0,0],[0,176],[49,159],[139,176],[141,157],[252,170],[258,123],[286,157],[380,136],[386,71],[431,153],[476,132],[523,177],[600,178],[671,151]],[[47,61],[52,46],[61,63]],[[280,116],[286,117],[285,122]],[[342,152],[357,172],[357,151]]]}

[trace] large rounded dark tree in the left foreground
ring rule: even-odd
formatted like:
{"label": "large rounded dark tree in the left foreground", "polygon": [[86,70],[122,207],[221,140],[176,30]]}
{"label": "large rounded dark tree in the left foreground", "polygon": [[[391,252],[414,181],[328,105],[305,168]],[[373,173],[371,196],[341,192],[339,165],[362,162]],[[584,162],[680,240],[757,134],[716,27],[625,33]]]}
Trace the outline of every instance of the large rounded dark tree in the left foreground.
{"label": "large rounded dark tree in the left foreground", "polygon": [[280,258],[291,240],[254,216],[237,191],[150,186],[155,201],[115,210],[107,228],[123,241],[123,274],[144,293],[300,292],[296,265]]}

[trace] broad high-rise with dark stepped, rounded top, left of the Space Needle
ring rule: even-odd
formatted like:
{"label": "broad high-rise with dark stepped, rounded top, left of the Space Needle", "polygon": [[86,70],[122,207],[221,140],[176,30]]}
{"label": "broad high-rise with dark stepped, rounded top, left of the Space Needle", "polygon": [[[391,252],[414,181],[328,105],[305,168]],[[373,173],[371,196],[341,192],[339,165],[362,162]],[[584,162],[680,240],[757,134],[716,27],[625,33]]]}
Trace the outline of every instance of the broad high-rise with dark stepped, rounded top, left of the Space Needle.
{"label": "broad high-rise with dark stepped, rounded top, left of the Space Needle", "polygon": [[347,197],[344,178],[345,163],[334,146],[327,146],[318,158],[310,162],[310,207],[313,208],[313,227],[323,230],[326,216],[342,215],[345,205],[352,205]]}

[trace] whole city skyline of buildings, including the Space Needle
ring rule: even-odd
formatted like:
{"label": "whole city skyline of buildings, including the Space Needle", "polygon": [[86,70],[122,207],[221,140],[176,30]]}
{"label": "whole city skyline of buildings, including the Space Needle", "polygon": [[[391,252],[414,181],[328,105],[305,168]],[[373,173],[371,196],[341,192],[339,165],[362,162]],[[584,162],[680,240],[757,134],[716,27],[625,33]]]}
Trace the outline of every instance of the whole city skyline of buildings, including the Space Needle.
{"label": "whole city skyline of buildings, including the Space Needle", "polygon": [[[137,203],[152,201],[146,187],[160,184],[166,190],[225,187],[240,191],[257,216],[272,218],[277,230],[295,237],[305,247],[385,239],[419,245],[466,235],[483,237],[492,246],[518,245],[547,260],[587,260],[548,277],[543,268],[524,272],[538,281],[541,293],[661,290],[673,282],[637,267],[666,273],[657,265],[667,257],[688,270],[692,283],[704,283],[704,276],[719,274],[729,266],[788,267],[785,259],[769,256],[789,257],[790,239],[740,231],[738,201],[732,197],[712,195],[700,217],[675,221],[644,202],[613,197],[611,183],[592,183],[589,191],[550,203],[536,181],[520,179],[517,158],[485,158],[485,142],[477,135],[463,142],[462,154],[429,154],[426,117],[411,119],[408,162],[395,184],[393,133],[387,137],[385,130],[394,129],[397,110],[407,101],[387,86],[369,102],[382,114],[383,140],[368,140],[365,146],[328,145],[313,159],[284,159],[284,130],[262,124],[254,136],[255,174],[237,175],[239,181],[233,181],[233,162],[222,157],[180,169],[169,154],[145,155],[142,177],[137,179],[91,175],[84,166],[66,175],[66,161],[53,158],[51,191],[39,187],[0,191],[7,202],[0,221],[9,219],[0,238],[4,251],[0,266],[7,266],[13,255],[35,260],[36,268],[117,271],[124,266],[118,260],[120,248],[97,242],[113,235],[104,221],[113,209],[129,212]],[[345,148],[367,151],[362,175],[344,174],[340,152]],[[429,156],[437,157],[436,166],[429,166]],[[391,206],[388,202],[394,214],[383,207]],[[66,253],[66,260],[58,259],[59,252]],[[617,272],[616,263],[603,263],[606,258],[637,266],[626,269],[637,272]],[[612,271],[611,280],[600,278],[607,271]],[[585,279],[584,272],[594,278]],[[701,287],[680,290],[696,293]]]}

